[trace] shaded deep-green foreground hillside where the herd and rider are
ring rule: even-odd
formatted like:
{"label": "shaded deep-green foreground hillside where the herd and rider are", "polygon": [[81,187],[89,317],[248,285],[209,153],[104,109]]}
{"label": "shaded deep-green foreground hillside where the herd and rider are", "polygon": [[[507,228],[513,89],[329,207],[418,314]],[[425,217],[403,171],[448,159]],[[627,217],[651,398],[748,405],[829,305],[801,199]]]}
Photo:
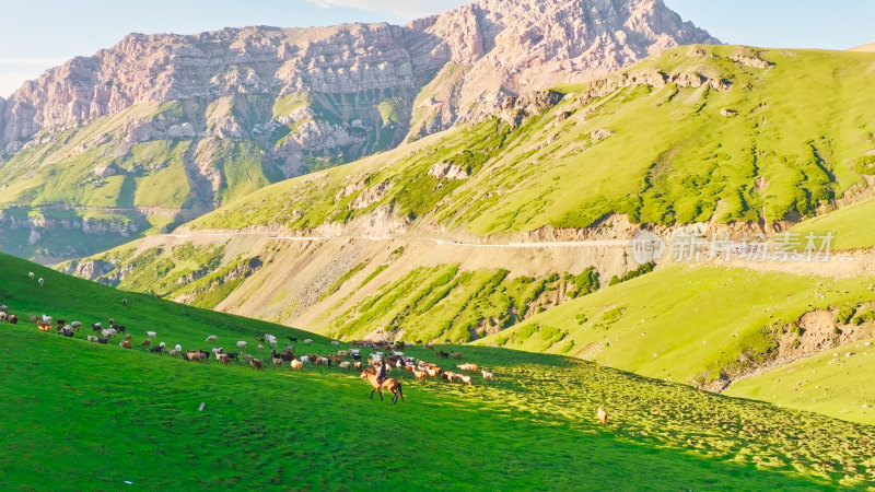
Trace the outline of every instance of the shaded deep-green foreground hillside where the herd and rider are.
{"label": "shaded deep-green foreground hillside where the herd and rider are", "polygon": [[[472,347],[439,350],[459,351],[494,380],[475,376],[464,387],[392,373],[405,394],[392,406],[369,400],[357,374],[334,366],[259,372],[190,363],[90,343],[84,332],[40,332],[26,315],[114,316],[137,338],[152,329],[184,348],[208,348],[208,333],[228,345],[295,330],[115,291],[8,256],[0,256],[0,302],[23,318],[0,325],[4,489],[875,484],[867,425],[557,355]],[[306,351],[337,349],[313,338]],[[407,352],[453,364],[424,348]],[[597,407],[609,412],[606,426],[596,422]]]}

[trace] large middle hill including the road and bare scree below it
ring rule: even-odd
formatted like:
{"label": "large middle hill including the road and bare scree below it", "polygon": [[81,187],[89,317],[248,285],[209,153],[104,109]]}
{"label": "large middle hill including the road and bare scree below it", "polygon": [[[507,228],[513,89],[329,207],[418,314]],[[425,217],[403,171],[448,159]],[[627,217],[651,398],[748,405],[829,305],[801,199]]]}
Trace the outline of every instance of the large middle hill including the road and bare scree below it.
{"label": "large middle hill including the road and bare scree below it", "polygon": [[336,336],[475,340],[574,298],[591,267],[587,293],[637,269],[642,227],[740,236],[867,207],[873,62],[668,49],[61,269]]}

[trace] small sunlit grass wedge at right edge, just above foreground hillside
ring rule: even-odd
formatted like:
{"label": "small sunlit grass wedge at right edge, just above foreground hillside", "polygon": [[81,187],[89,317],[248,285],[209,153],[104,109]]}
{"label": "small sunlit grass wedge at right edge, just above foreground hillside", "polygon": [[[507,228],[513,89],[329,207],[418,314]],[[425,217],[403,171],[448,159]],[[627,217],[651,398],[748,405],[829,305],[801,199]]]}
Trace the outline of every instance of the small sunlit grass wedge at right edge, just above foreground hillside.
{"label": "small sunlit grass wedge at right edge, just above foreground hillside", "polygon": [[875,350],[868,343],[849,343],[738,380],[725,394],[873,424]]}

